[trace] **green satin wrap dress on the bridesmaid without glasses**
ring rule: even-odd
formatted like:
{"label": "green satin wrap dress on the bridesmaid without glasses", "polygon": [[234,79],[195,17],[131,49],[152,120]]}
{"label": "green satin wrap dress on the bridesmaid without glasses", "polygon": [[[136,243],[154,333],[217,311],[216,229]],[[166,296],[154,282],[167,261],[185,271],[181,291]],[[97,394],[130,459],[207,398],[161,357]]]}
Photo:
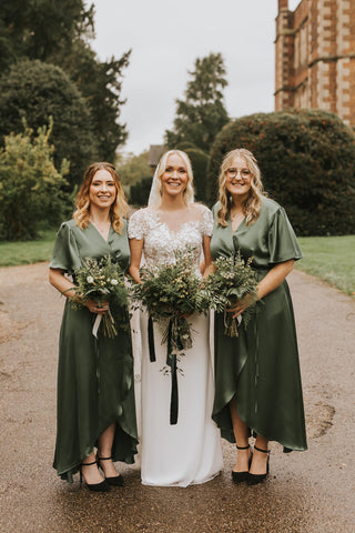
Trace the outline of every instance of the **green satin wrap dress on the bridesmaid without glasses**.
{"label": "green satin wrap dress on the bridesmaid without glasses", "polygon": [[[64,222],[57,237],[50,266],[71,274],[81,259],[110,254],[123,270],[130,263],[126,224],[122,234],[111,227],[108,242],[89,223],[81,230],[73,220]],[[82,460],[97,445],[98,438],[115,422],[113,461],[134,462],[136,423],[133,356],[130,330],[114,339],[99,330],[92,334],[95,314],[73,310],[65,303],[58,365],[58,422],[53,466],[69,482]],[[126,315],[129,322],[129,314]]]}

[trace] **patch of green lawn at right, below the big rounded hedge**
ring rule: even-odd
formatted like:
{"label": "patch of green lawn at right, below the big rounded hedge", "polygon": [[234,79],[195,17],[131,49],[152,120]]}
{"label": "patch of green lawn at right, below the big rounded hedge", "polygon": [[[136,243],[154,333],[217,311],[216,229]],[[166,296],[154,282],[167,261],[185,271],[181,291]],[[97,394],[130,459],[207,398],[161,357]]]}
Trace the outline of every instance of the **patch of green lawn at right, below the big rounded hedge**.
{"label": "patch of green lawn at right, below the big rounded hedge", "polygon": [[355,295],[355,235],[302,237],[304,259],[295,268]]}

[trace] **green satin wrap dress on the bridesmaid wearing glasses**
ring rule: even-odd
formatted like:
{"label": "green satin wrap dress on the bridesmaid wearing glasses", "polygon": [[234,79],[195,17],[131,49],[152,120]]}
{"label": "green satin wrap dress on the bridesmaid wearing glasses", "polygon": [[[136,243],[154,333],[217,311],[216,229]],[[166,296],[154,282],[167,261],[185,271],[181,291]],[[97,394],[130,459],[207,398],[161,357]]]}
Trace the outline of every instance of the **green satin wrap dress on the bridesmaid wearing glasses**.
{"label": "green satin wrap dress on the bridesmaid wearing glasses", "polygon": [[[277,263],[302,258],[285,211],[263,199],[257,220],[232,233],[219,225],[213,208],[211,251],[214,259],[241,251],[253,257],[258,280]],[[277,441],[284,451],[306,450],[302,384],[293,305],[287,282],[263,298],[263,305],[239,338],[224,335],[223,315],[215,318],[215,400],[213,419],[222,436],[235,442],[229,403],[236,399],[240,418],[253,433]]]}

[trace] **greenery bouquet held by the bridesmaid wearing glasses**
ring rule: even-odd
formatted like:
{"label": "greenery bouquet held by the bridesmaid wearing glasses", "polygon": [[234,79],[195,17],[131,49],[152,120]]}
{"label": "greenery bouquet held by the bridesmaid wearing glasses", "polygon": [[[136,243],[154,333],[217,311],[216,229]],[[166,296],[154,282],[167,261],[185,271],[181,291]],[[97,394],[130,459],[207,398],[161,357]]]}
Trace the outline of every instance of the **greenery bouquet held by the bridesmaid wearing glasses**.
{"label": "greenery bouquet held by the bridesmaid wearing glasses", "polygon": [[214,262],[215,272],[202,282],[204,298],[217,312],[224,312],[224,333],[229,336],[239,336],[237,319],[233,319],[233,309],[244,298],[250,299],[250,305],[243,311],[243,324],[246,328],[256,311],[257,279],[251,266],[252,258],[246,262],[240,252],[229,258],[217,258]]}

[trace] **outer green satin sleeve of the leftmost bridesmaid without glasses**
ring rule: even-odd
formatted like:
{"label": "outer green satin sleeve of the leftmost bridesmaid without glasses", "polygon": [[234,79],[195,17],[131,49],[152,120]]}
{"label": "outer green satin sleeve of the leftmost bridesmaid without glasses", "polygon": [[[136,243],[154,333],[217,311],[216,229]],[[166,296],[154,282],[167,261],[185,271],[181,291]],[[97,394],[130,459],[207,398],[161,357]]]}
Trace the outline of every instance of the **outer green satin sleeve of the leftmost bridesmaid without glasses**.
{"label": "outer green satin sleeve of the leftmost bridesmaid without glasses", "polygon": [[69,274],[81,265],[78,244],[69,222],[63,222],[58,231],[51,269],[62,269]]}

